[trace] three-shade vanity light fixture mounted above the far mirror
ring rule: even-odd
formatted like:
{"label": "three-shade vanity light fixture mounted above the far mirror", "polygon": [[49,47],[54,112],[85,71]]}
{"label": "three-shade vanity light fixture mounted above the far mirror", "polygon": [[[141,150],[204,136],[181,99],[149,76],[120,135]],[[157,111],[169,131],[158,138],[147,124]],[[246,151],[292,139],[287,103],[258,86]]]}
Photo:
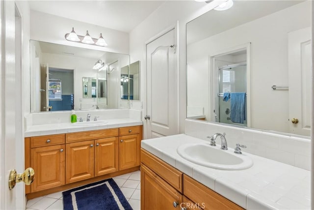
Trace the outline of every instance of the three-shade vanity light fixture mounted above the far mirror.
{"label": "three-shade vanity light fixture mounted above the far mirror", "polygon": [[81,42],[84,44],[97,45],[97,46],[101,46],[101,47],[107,46],[107,43],[105,42],[105,39],[104,39],[102,33],[100,33],[99,38],[96,39],[96,38],[92,38],[89,35],[88,30],[86,30],[85,36],[81,36],[81,35],[76,34],[76,32],[74,31],[74,28],[72,28],[72,31],[70,33],[66,33],[64,35],[64,37],[68,41]]}

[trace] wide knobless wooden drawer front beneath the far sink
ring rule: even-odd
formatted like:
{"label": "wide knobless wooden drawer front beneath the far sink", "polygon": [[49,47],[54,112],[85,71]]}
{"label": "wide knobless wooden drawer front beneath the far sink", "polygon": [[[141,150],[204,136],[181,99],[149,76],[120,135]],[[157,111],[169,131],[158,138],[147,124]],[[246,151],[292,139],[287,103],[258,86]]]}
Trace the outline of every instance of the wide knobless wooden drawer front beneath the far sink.
{"label": "wide knobless wooden drawer front beneath the far sink", "polygon": [[65,134],[66,143],[119,136],[119,129],[105,129]]}

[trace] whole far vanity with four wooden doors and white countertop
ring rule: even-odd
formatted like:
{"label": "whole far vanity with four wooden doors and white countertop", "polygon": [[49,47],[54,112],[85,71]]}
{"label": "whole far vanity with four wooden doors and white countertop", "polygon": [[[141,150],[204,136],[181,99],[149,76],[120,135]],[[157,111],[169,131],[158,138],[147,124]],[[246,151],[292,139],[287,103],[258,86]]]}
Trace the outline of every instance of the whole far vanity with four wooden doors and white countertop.
{"label": "whole far vanity with four wooden doors and white countertop", "polygon": [[35,171],[28,199],[139,170],[139,120],[32,125],[25,136],[25,166]]}

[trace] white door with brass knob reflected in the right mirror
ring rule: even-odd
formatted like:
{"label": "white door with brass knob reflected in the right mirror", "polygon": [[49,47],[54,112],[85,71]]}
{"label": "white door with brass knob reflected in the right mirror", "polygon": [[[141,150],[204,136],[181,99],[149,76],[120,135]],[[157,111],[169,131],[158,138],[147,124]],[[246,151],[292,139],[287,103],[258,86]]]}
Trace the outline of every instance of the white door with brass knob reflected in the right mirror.
{"label": "white door with brass knob reflected in the right mirror", "polygon": [[289,32],[289,128],[290,133],[303,136],[311,133],[311,58],[311,28]]}

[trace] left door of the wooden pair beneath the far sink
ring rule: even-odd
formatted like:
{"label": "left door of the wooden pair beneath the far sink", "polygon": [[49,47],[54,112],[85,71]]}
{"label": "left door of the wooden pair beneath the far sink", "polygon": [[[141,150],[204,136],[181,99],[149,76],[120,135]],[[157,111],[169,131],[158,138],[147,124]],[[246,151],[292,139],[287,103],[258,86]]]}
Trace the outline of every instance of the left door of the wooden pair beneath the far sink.
{"label": "left door of the wooden pair beneath the far sink", "polygon": [[94,177],[94,140],[66,145],[66,183]]}

